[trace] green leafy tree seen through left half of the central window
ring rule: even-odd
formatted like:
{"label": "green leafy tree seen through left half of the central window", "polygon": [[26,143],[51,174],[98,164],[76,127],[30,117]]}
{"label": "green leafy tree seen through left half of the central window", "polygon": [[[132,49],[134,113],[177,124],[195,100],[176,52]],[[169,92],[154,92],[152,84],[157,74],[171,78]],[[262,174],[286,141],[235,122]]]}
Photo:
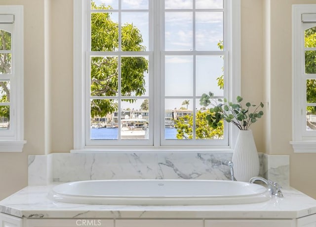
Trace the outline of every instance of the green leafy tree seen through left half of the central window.
{"label": "green leafy tree seen through left half of the central window", "polygon": [[[97,6],[91,1],[91,9],[111,9],[101,4]],[[111,19],[109,12],[95,12],[91,14],[91,51],[118,50],[118,23]],[[121,26],[121,50],[145,51],[142,45],[141,32],[133,24]],[[91,96],[109,96],[113,99],[93,99],[91,101],[91,117],[104,117],[118,111],[115,100],[120,92],[121,96],[142,96],[145,94],[144,74],[148,72],[148,60],[144,57],[92,57],[91,58]],[[120,91],[118,91],[118,67],[120,66]],[[125,99],[135,102],[135,99]]]}

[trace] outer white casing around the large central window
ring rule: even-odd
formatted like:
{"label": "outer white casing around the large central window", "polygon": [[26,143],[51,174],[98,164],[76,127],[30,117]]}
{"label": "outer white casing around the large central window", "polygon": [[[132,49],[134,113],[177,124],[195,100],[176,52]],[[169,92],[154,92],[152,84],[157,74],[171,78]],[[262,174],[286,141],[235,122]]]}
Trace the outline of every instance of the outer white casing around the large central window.
{"label": "outer white casing around the large central window", "polygon": [[[160,7],[157,3],[158,1],[154,0],[153,4],[155,4],[155,7]],[[229,15],[229,23],[228,23],[228,30],[231,35],[229,39],[227,40],[227,46],[230,47],[230,49],[224,50],[227,51],[229,58],[225,61],[228,61],[229,69],[226,69],[228,71],[228,80],[229,83],[229,93],[228,98],[233,100],[232,97],[236,97],[237,95],[240,95],[240,0],[228,0],[229,7],[231,8],[231,14]],[[235,145],[235,141],[237,138],[237,132],[238,130],[236,127],[231,127],[231,124],[229,125],[229,141],[226,145],[214,145],[214,146],[188,146],[186,142],[181,140],[182,145],[177,144],[163,144],[164,146],[160,145],[160,138],[159,136],[153,137],[153,145],[149,146],[128,146],[127,144],[122,144],[121,146],[104,146],[104,145],[91,145],[86,144],[85,138],[86,138],[86,132],[85,127],[86,123],[84,121],[84,116],[87,114],[87,111],[84,107],[84,101],[86,99],[85,97],[85,76],[84,72],[86,70],[85,66],[85,50],[86,50],[86,44],[87,41],[85,39],[85,30],[86,30],[86,7],[87,4],[85,3],[85,0],[74,0],[74,150],[72,152],[85,152],[85,151],[113,151],[115,150],[222,150],[222,151],[232,151]],[[161,15],[156,15],[155,20],[159,20],[159,17]],[[151,31],[150,31],[151,32]],[[153,34],[157,35],[157,34]],[[157,49],[150,50],[150,51],[158,51],[158,45],[155,45]],[[151,57],[151,55],[150,55]],[[157,58],[156,58],[157,61]],[[150,66],[151,70],[154,71],[154,73],[158,75],[159,68],[155,68],[156,63],[154,63],[154,66]],[[151,82],[150,85],[150,97],[153,100],[151,102],[151,110],[150,110],[150,117],[151,122],[153,122],[155,129],[160,129],[160,121],[164,121],[161,117],[160,119],[158,116],[154,116],[154,113],[162,112],[160,106],[163,106],[161,101],[159,100],[159,96],[153,97],[153,93],[159,94],[161,91],[154,91],[154,89],[157,89],[157,86],[153,86],[153,83],[155,84],[161,84],[160,78],[158,76],[154,76],[154,81]],[[227,94],[225,94],[227,95]],[[161,96],[161,95],[160,95]],[[152,103],[154,104],[152,105]],[[151,130],[153,130],[153,127],[151,127]],[[153,131],[152,131],[153,132]],[[153,134],[153,133],[152,133]],[[122,141],[122,140],[120,140]],[[128,142],[128,141],[127,141]],[[130,141],[129,142],[134,142]],[[137,141],[135,141],[137,142]],[[131,145],[133,145],[131,143]]]}

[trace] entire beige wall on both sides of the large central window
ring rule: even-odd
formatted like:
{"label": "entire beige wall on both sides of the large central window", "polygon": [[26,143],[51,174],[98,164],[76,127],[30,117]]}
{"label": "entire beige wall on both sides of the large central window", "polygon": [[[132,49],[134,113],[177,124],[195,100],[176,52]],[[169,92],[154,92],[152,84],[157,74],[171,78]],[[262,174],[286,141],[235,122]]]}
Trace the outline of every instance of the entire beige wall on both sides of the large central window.
{"label": "entire beige wall on both sides of the large central window", "polygon": [[[242,97],[267,102],[252,128],[258,151],[291,157],[291,185],[316,198],[316,154],[291,140],[291,5],[316,0],[241,0]],[[24,5],[25,145],[0,153],[0,199],[27,185],[27,156],[73,148],[73,0],[1,0]],[[282,113],[282,114],[280,114]]]}

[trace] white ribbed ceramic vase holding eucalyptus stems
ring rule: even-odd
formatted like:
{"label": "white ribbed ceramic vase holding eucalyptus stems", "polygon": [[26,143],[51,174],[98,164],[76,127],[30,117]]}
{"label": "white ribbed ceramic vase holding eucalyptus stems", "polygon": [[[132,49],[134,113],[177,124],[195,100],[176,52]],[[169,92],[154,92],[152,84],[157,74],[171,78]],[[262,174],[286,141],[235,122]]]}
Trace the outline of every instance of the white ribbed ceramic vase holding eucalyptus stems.
{"label": "white ribbed ceramic vase holding eucalyptus stems", "polygon": [[232,162],[237,181],[248,182],[259,175],[259,157],[251,130],[239,130]]}

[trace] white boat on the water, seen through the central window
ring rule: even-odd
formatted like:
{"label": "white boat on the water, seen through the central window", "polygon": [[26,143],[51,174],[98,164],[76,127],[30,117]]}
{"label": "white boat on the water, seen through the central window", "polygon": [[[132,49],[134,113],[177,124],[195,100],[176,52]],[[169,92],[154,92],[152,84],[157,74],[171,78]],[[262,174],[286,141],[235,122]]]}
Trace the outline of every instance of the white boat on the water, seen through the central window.
{"label": "white boat on the water, seen through the central window", "polygon": [[148,139],[148,122],[139,115],[137,118],[128,115],[121,120],[121,139]]}

